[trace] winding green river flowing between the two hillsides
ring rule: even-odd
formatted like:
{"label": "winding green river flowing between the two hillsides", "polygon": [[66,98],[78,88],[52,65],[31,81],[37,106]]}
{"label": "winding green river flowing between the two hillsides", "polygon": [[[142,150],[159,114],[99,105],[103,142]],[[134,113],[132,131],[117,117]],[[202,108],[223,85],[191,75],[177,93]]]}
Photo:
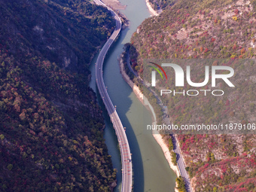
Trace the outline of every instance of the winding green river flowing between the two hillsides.
{"label": "winding green river flowing between the two hillsides", "polygon": [[[120,3],[127,5],[126,9],[121,12],[130,20],[130,26],[121,31],[119,39],[108,51],[103,75],[108,94],[113,105],[117,105],[117,114],[123,126],[126,127],[126,135],[133,154],[133,191],[175,191],[175,173],[169,168],[169,163],[154,137],[145,132],[145,125],[152,123],[151,112],[142,105],[130,86],[123,80],[117,61],[117,57],[123,52],[123,45],[130,42],[133,32],[136,32],[137,27],[145,18],[150,17],[150,13],[145,0],[120,0]],[[90,87],[96,91],[99,98],[94,76],[97,56],[98,54],[90,66],[92,73]],[[101,99],[99,99],[99,104],[103,108]],[[105,110],[104,117],[106,124],[104,138],[113,166],[117,169],[117,187],[114,188],[117,192],[120,191],[122,178],[120,151],[113,126]]]}

